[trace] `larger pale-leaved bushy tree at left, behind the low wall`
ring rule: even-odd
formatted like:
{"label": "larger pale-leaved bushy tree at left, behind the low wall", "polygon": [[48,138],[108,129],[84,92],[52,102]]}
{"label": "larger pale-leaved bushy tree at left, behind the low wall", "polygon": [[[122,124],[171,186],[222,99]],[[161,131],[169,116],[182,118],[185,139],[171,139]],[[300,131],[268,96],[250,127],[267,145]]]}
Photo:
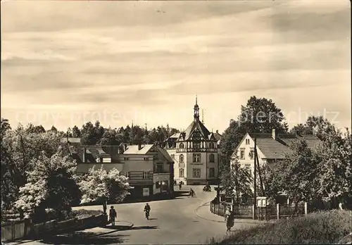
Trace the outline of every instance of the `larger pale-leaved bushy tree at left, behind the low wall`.
{"label": "larger pale-leaved bushy tree at left, behind the low wall", "polygon": [[75,162],[60,148],[51,158],[42,153],[32,161],[27,183],[20,187],[16,208],[28,213],[42,215],[45,208],[53,208],[58,217],[63,211],[80,203],[80,189],[75,181]]}

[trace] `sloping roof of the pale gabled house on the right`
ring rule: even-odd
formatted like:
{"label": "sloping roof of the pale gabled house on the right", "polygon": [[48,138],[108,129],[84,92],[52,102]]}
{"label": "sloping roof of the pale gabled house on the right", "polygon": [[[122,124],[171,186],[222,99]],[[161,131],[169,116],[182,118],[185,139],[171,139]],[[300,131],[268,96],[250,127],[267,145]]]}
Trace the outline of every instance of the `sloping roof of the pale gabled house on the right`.
{"label": "sloping roof of the pale gabled house on the right", "polygon": [[254,134],[249,136],[257,139],[258,149],[264,154],[265,158],[283,159],[286,153],[292,153],[289,149],[291,142],[305,139],[308,147],[313,148],[320,143],[320,139],[315,135],[296,135],[296,134],[277,134],[277,139],[272,138],[272,134]]}

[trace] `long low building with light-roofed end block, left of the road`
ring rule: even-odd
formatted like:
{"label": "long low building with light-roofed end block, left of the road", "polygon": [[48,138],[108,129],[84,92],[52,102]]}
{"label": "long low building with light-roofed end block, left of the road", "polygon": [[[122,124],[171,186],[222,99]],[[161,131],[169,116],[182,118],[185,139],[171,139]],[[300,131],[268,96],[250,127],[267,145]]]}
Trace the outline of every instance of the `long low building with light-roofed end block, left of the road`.
{"label": "long low building with light-roofed end block, left of the road", "polygon": [[131,197],[145,197],[173,191],[173,161],[156,144],[120,146],[71,145],[70,153],[77,161],[77,173],[92,167],[112,170],[129,177]]}

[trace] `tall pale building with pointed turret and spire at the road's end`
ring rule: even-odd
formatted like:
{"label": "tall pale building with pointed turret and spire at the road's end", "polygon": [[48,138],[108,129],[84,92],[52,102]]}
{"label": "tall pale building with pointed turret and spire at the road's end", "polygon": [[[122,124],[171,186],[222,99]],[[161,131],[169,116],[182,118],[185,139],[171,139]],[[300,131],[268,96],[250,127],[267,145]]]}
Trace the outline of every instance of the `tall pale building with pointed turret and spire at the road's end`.
{"label": "tall pale building with pointed turret and spire at the road's end", "polygon": [[194,120],[184,132],[173,134],[164,142],[174,161],[175,180],[187,184],[218,182],[221,135],[209,132],[199,120],[199,106],[194,105]]}

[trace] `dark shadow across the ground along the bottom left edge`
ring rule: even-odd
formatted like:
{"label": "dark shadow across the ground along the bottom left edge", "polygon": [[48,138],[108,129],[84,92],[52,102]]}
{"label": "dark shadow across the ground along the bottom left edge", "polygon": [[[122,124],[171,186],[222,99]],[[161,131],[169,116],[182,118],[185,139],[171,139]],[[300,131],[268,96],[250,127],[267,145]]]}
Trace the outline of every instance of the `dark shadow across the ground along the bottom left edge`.
{"label": "dark shadow across the ground along the bottom left edge", "polygon": [[[73,236],[68,234],[56,235],[53,237],[45,237],[41,240],[44,244],[122,244],[127,235],[114,234],[111,232],[104,232],[96,234],[95,232],[76,232]],[[109,235],[110,234],[110,235]]]}

